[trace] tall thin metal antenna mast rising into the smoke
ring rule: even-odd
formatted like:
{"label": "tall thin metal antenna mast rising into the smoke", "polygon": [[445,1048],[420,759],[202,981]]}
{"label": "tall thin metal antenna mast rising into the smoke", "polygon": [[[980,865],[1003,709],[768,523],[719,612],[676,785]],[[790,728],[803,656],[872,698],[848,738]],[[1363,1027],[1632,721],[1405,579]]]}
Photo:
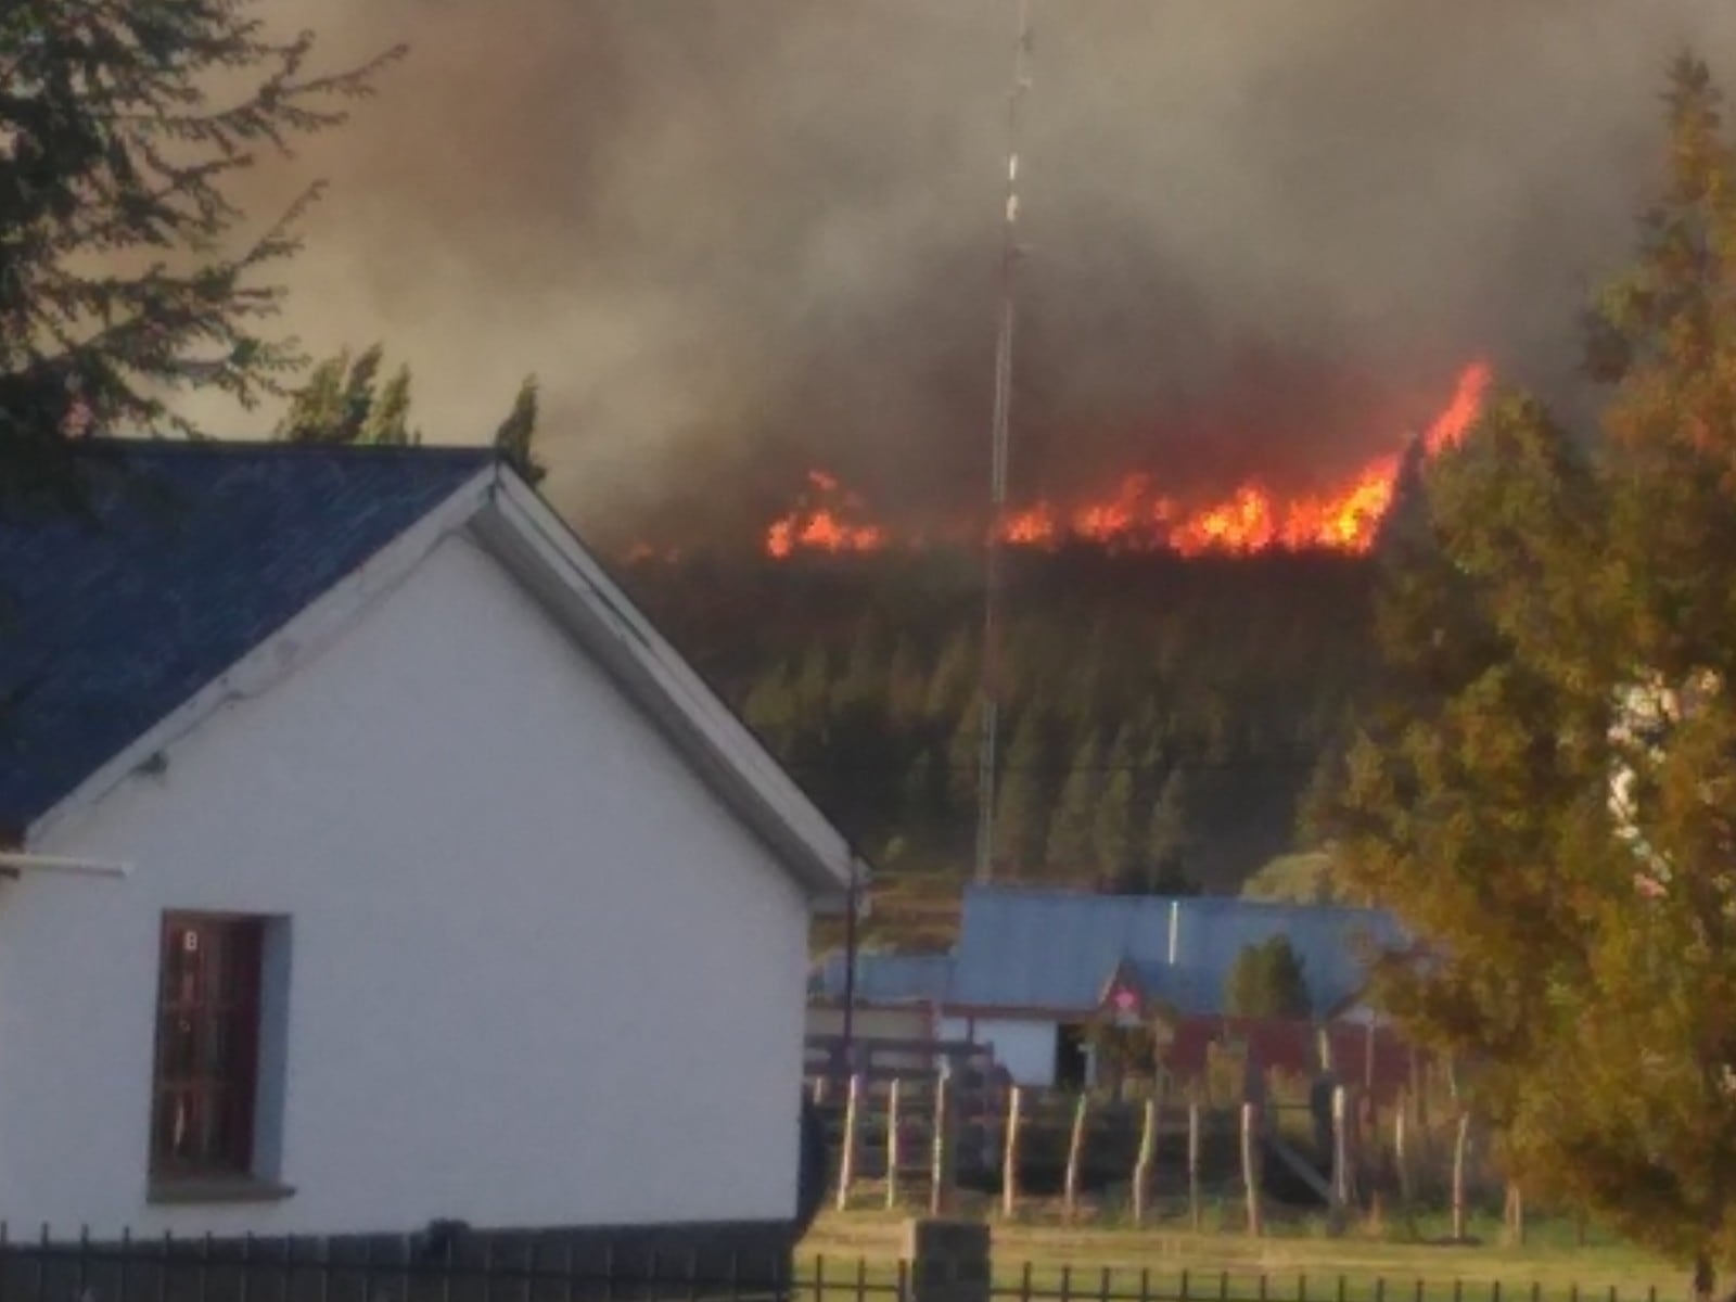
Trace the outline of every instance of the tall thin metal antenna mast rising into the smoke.
{"label": "tall thin metal antenna mast rising into the smoke", "polygon": [[1031,87],[1031,0],[1019,0],[1019,43],[1014,56],[1012,94],[1007,97],[1007,220],[1000,252],[1000,333],[995,340],[995,425],[990,453],[990,533],[983,583],[983,670],[977,686],[981,733],[977,741],[976,880],[995,875],[995,746],[1000,729],[1000,562],[1007,524],[1007,425],[1012,413],[1014,281],[1019,257],[1019,106]]}

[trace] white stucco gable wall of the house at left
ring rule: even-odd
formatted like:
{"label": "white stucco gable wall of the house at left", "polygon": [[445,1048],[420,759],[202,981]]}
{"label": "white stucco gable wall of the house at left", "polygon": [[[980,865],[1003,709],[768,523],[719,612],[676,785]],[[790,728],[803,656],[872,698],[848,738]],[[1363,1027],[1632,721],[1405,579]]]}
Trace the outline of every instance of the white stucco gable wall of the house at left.
{"label": "white stucco gable wall of the house at left", "polygon": [[[335,646],[0,884],[0,1217],[94,1234],[788,1217],[799,889],[493,559]],[[148,1205],[161,910],[288,915],[281,1179]]]}

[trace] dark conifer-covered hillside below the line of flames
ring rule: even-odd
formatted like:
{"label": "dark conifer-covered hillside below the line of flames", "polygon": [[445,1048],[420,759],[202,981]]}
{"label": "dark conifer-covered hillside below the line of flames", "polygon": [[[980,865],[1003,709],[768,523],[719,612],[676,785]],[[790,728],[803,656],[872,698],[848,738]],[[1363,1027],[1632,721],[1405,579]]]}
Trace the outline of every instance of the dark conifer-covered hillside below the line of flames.
{"label": "dark conifer-covered hillside below the line of flames", "polygon": [[[1297,799],[1364,677],[1366,561],[1075,549],[1016,552],[1009,573],[1000,880],[1234,891],[1293,847]],[[969,873],[976,557],[696,559],[623,578],[894,891]]]}

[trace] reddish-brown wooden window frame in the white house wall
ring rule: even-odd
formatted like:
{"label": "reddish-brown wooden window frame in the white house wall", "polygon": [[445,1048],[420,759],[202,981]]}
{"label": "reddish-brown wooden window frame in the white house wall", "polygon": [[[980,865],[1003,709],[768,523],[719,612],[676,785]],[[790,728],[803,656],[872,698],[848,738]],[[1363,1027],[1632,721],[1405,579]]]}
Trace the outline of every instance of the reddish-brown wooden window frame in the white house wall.
{"label": "reddish-brown wooden window frame in the white house wall", "polygon": [[151,1175],[250,1175],[264,918],[165,913]]}

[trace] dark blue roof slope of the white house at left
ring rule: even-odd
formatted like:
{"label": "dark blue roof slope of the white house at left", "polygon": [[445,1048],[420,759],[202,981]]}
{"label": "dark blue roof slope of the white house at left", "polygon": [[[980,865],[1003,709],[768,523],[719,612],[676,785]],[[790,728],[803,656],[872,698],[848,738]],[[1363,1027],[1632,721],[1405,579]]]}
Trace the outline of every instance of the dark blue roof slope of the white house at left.
{"label": "dark blue roof slope of the white house at left", "polygon": [[0,823],[21,832],[493,464],[106,443],[89,512],[0,521]]}

